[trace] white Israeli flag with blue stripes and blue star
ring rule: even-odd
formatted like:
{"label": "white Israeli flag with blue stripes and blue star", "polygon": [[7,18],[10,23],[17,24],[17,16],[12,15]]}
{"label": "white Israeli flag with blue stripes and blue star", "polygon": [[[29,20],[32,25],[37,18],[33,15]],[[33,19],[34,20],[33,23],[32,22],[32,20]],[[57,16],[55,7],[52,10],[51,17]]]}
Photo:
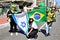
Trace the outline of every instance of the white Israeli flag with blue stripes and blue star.
{"label": "white Israeli flag with blue stripes and blue star", "polygon": [[12,17],[15,23],[18,25],[18,28],[22,29],[25,34],[28,33],[28,18],[26,13],[12,14]]}

